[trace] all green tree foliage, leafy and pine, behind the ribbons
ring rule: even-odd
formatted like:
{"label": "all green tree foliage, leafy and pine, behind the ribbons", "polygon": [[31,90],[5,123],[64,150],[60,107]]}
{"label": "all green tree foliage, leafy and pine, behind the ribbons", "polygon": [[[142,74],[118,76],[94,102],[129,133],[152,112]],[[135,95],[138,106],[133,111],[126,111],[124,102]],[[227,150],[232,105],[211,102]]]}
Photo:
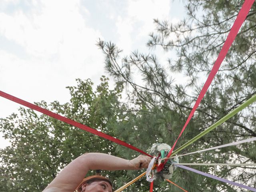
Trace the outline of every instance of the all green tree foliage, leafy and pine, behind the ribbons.
{"label": "all green tree foliage, leafy and pine, behind the ribbons", "polygon": [[[114,90],[108,88],[105,77],[95,91],[90,80],[77,80],[77,86],[68,87],[70,102],[47,104],[42,101],[37,104],[144,151],[159,138],[172,145],[241,6],[242,2],[236,0],[189,0],[185,6],[186,19],[175,24],[155,19],[156,30],[150,33],[148,46],[175,52],[176,58],[169,58],[166,63],[160,63],[154,54],[138,51],[122,58],[121,50],[115,44],[99,40],[98,46],[106,56],[106,69],[116,82]],[[256,93],[255,16],[256,4],[176,148]],[[189,81],[176,83],[172,74],[177,72],[184,74]],[[252,104],[182,153],[255,137],[255,114],[256,107]],[[0,151],[1,191],[42,191],[66,164],[84,152],[105,152],[127,159],[138,155],[123,146],[24,108],[20,108],[19,114],[1,119],[0,130],[11,141],[10,147]],[[184,156],[180,162],[251,163],[256,162],[255,157],[256,146],[250,142]],[[214,173],[213,167],[195,168]],[[116,188],[140,173],[103,172],[114,180]],[[217,167],[216,175],[256,187],[254,168]],[[181,168],[174,172],[172,181],[188,191],[241,191]],[[161,180],[157,180],[154,186],[158,191],[180,191]],[[148,188],[149,184],[143,178],[126,191],[147,191]]]}

